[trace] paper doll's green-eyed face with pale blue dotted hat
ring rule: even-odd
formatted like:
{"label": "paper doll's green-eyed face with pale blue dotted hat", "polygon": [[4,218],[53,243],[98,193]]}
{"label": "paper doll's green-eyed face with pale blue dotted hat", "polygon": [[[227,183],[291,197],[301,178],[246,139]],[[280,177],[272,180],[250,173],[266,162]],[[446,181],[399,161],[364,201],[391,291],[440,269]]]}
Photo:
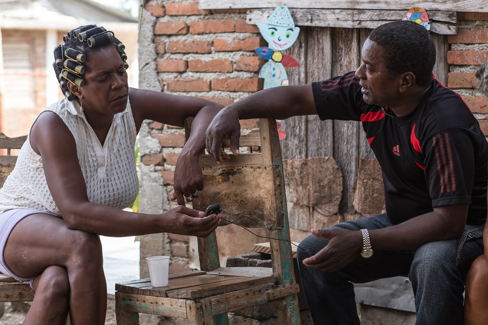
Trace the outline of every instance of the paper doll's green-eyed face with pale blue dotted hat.
{"label": "paper doll's green-eyed face with pale blue dotted hat", "polygon": [[298,38],[300,27],[295,27],[288,7],[284,4],[275,8],[266,23],[256,24],[264,39],[277,50],[286,50]]}

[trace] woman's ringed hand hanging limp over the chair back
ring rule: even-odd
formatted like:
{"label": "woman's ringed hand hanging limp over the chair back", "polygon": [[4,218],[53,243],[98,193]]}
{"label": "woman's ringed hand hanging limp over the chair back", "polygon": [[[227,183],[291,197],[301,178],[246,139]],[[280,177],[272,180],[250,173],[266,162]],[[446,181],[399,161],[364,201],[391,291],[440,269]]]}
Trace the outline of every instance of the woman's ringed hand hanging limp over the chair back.
{"label": "woman's ringed hand hanging limp over the chair back", "polygon": [[180,153],[176,161],[173,189],[175,192],[171,196],[171,201],[176,199],[180,206],[184,206],[183,196],[190,197],[197,190],[203,190],[202,169],[198,163],[198,154],[185,149]]}

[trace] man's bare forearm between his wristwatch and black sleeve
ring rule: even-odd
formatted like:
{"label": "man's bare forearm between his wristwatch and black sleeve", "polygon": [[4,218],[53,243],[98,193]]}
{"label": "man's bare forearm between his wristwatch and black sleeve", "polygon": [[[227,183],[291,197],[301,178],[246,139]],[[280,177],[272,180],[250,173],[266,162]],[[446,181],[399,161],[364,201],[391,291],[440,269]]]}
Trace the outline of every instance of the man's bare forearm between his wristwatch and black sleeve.
{"label": "man's bare forearm between his wristwatch and black sleeve", "polygon": [[[467,209],[466,205],[466,212]],[[433,211],[393,227],[370,230],[371,247],[373,250],[417,249],[430,242],[458,239],[466,223],[467,213],[463,212],[447,215]]]}

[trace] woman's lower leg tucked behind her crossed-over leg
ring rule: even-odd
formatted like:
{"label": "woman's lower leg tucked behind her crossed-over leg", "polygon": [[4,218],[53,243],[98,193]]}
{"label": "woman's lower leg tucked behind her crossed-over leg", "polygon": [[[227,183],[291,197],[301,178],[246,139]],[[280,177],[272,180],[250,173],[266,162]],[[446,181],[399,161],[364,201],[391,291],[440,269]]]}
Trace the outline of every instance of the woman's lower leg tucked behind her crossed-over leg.
{"label": "woman's lower leg tucked behind her crossed-over leg", "polygon": [[32,287],[36,293],[23,324],[35,325],[42,320],[51,325],[66,325],[70,291],[66,268],[57,265],[46,268],[34,279]]}

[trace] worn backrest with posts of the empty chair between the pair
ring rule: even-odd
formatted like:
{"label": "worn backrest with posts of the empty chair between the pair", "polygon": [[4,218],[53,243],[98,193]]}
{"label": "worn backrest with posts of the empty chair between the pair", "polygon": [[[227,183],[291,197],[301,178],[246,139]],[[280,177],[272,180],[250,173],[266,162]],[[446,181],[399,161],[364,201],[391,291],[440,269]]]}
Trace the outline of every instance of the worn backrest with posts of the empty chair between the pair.
{"label": "worn backrest with posts of the empty chair between the pair", "polygon": [[[193,117],[185,120],[186,139]],[[261,147],[260,153],[230,154],[230,160],[218,165],[210,154],[203,153],[199,162],[203,173],[203,191],[193,200],[193,208],[205,210],[219,203],[225,219],[247,228],[269,229],[273,275],[277,283],[295,283],[288,211],[286,209],[285,176],[281,146],[275,119],[260,119],[260,128],[241,135],[241,147]],[[224,140],[229,148],[229,140]],[[226,223],[221,220],[221,226]],[[249,248],[250,249],[250,248]],[[215,231],[207,238],[198,238],[200,268],[211,271],[220,267]]]}

